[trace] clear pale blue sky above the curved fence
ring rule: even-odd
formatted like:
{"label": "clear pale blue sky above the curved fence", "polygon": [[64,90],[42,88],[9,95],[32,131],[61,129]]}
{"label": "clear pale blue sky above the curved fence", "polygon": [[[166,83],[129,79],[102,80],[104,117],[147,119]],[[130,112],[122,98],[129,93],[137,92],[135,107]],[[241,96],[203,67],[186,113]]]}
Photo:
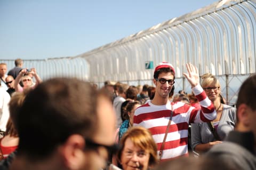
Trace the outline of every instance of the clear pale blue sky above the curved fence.
{"label": "clear pale blue sky above the curved fence", "polygon": [[75,56],[218,0],[0,0],[0,59]]}

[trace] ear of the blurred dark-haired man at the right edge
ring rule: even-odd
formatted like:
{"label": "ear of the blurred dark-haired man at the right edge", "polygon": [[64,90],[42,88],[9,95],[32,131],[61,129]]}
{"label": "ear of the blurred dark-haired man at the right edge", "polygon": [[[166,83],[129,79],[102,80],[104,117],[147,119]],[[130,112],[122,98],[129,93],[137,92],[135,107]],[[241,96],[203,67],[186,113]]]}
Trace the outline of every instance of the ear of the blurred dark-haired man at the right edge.
{"label": "ear of the blurred dark-haired man at the right edge", "polygon": [[247,128],[250,126],[249,121],[249,112],[250,108],[246,104],[240,104],[240,106],[237,108],[237,118],[239,121],[239,124],[241,124],[244,128]]}

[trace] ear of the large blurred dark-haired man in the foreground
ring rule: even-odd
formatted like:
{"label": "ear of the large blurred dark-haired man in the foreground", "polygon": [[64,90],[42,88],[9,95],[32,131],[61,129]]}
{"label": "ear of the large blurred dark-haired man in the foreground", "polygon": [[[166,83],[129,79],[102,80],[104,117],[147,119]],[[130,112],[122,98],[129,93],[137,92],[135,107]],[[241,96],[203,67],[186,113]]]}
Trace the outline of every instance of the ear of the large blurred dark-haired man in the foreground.
{"label": "ear of the large blurred dark-haired man in the foreground", "polygon": [[70,169],[79,169],[85,161],[84,147],[85,141],[83,136],[78,134],[69,136],[67,141],[59,148],[64,160],[63,164]]}

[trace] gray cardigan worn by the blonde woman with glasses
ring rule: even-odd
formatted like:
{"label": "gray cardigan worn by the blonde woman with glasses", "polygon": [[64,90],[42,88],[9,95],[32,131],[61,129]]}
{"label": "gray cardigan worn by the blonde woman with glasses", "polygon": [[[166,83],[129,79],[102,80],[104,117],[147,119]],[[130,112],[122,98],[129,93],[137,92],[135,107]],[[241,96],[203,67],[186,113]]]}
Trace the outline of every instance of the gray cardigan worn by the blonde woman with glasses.
{"label": "gray cardigan worn by the blonde woman with glasses", "polygon": [[[223,141],[236,123],[236,108],[223,104],[223,111],[217,128],[217,133]],[[216,141],[207,123],[191,124],[191,147],[194,150],[197,144]]]}

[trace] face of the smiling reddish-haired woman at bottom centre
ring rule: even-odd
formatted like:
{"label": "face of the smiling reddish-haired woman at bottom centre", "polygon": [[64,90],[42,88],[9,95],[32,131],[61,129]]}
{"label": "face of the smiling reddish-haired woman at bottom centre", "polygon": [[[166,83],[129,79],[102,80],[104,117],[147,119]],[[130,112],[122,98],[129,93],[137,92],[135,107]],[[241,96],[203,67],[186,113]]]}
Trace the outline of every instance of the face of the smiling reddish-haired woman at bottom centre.
{"label": "face of the smiling reddish-haired woman at bottom centre", "polygon": [[130,138],[127,138],[120,161],[124,170],[147,170],[149,157],[148,150],[142,150],[135,146]]}

